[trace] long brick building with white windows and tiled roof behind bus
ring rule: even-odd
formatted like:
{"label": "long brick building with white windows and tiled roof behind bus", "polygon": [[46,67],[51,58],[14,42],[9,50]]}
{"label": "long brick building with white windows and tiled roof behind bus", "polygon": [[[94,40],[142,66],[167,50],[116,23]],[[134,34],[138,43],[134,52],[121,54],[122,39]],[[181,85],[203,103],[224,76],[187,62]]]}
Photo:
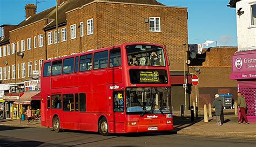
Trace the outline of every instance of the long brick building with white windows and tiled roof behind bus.
{"label": "long brick building with white windows and tiled roof behind bus", "polygon": [[155,0],[59,0],[58,33],[55,7],[37,14],[35,9],[27,4],[23,22],[1,26],[2,84],[17,89],[32,73],[40,74],[43,60],[131,42],[166,45],[171,71],[183,71],[187,8]]}

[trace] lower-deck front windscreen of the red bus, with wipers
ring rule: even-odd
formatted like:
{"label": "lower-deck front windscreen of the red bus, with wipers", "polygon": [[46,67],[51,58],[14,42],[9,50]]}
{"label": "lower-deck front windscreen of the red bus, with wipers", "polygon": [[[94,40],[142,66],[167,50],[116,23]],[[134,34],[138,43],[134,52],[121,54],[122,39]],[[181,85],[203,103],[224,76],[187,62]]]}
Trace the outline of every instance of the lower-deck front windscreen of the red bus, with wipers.
{"label": "lower-deck front windscreen of the red bus, with wipers", "polygon": [[171,90],[167,87],[126,88],[127,114],[166,114],[171,112]]}

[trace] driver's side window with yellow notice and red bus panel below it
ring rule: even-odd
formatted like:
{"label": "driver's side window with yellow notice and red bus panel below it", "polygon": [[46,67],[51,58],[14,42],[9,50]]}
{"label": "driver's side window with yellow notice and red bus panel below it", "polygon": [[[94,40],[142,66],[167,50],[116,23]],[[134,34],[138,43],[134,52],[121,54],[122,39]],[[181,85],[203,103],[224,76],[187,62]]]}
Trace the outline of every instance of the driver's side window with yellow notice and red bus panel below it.
{"label": "driver's side window with yellow notice and red bus panel below it", "polygon": [[117,90],[113,91],[113,115],[114,115],[114,128],[115,132],[124,131],[125,123],[125,102],[124,102],[124,91]]}

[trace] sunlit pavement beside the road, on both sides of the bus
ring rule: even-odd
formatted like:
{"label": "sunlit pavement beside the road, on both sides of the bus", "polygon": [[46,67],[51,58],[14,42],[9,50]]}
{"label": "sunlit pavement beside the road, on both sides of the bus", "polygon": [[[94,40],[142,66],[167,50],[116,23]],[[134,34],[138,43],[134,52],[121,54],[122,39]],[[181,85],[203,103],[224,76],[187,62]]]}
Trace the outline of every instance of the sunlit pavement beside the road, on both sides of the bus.
{"label": "sunlit pavement beside the road, on both sides of the bus", "polygon": [[[198,119],[193,122],[191,122],[191,117],[189,114],[185,115],[184,117],[180,117],[178,113],[174,114],[174,134],[220,138],[256,139],[256,123],[238,124],[238,116],[234,115],[233,110],[224,110],[225,121],[221,126],[215,125],[215,117],[208,118],[209,122],[204,122],[203,113],[200,111]],[[21,121],[21,124],[19,124],[19,120],[0,120],[0,127],[1,125],[44,128],[41,126],[40,121],[31,121],[31,123]]]}

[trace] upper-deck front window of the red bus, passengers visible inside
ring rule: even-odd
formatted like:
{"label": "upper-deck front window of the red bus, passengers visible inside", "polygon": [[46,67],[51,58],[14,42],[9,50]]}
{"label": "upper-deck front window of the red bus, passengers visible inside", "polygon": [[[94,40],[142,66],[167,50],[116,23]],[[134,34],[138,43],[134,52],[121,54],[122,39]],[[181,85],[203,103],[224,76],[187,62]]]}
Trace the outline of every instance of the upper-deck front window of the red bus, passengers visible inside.
{"label": "upper-deck front window of the red bus, passengers visible inside", "polygon": [[127,45],[125,48],[130,66],[165,66],[163,47],[154,45]]}

